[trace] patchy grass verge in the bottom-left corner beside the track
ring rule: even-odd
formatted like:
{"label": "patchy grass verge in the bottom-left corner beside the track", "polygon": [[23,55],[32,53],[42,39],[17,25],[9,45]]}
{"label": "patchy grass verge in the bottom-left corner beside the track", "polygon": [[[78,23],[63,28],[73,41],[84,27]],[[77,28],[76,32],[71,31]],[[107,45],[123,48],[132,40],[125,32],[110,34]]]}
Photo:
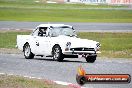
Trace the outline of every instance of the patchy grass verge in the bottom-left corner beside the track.
{"label": "patchy grass verge in the bottom-left corner beside the track", "polygon": [[66,88],[53,82],[20,76],[0,75],[0,88]]}

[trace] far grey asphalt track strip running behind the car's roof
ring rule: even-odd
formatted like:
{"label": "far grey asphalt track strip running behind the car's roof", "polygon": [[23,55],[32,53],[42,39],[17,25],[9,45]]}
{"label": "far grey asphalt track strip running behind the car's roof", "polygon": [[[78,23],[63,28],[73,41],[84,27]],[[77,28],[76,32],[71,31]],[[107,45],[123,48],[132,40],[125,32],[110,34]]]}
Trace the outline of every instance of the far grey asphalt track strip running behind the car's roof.
{"label": "far grey asphalt track strip running behind the car's roof", "polygon": [[0,21],[0,29],[34,29],[39,24],[59,23],[72,25],[76,31],[87,32],[132,32],[132,23],[75,23],[75,22],[17,22]]}

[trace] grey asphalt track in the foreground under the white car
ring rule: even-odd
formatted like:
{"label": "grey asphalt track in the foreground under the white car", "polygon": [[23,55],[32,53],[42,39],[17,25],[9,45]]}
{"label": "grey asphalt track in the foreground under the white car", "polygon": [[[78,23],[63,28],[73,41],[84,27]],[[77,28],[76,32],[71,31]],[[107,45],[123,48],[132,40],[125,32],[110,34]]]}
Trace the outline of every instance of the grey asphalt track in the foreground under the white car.
{"label": "grey asphalt track in the foreground under the white car", "polygon": [[[35,57],[25,59],[22,54],[0,54],[0,73],[33,76],[53,81],[76,83],[77,68],[82,65],[87,74],[130,74],[132,60],[98,57],[95,63],[87,63],[84,58],[66,58],[56,62],[51,58]],[[85,84],[87,88],[131,88],[129,84]]]}

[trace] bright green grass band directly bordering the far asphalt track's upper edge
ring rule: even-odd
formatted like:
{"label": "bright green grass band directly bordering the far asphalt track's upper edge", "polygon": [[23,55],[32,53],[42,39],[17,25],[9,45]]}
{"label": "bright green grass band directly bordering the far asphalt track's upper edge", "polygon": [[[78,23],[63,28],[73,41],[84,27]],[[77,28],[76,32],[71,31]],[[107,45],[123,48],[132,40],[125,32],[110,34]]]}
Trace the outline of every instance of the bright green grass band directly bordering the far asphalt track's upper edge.
{"label": "bright green grass band directly bordering the far asphalt track's upper edge", "polygon": [[132,11],[0,8],[0,20],[45,22],[132,22]]}

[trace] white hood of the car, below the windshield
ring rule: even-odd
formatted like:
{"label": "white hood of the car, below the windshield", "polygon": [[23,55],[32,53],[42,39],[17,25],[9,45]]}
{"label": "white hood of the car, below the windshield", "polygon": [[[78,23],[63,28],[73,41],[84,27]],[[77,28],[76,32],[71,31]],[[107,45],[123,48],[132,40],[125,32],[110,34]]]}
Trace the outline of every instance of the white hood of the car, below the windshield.
{"label": "white hood of the car, below the windshield", "polygon": [[88,39],[81,39],[76,37],[69,36],[59,36],[59,39],[64,42],[71,42],[71,48],[76,47],[87,47],[87,48],[95,48],[98,42]]}

